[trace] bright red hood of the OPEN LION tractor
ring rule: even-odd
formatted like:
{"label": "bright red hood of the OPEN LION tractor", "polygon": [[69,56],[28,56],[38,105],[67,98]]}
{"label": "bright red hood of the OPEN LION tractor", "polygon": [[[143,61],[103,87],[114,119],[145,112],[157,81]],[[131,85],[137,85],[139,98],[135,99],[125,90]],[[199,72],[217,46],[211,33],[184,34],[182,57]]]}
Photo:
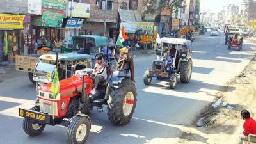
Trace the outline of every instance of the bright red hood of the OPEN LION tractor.
{"label": "bright red hood of the OPEN LION tractor", "polygon": [[[80,74],[77,74],[74,77],[70,77],[68,79],[64,79],[60,81],[60,95],[61,97],[64,97],[66,95],[73,95],[77,94],[77,92],[82,91],[82,85],[83,85],[83,78],[80,76]],[[50,90],[52,86],[52,83],[44,84],[40,87],[40,91],[42,92],[49,92],[52,93]],[[92,88],[92,80],[86,76],[84,77],[84,90]],[[88,91],[90,92],[90,89]],[[87,91],[87,90],[86,90]]]}

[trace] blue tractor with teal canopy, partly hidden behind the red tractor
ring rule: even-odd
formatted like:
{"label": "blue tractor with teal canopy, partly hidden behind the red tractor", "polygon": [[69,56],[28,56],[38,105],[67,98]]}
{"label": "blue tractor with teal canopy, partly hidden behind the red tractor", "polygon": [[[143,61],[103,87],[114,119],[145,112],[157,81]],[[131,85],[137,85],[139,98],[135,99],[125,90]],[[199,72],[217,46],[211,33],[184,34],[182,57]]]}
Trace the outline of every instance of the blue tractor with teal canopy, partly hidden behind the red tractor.
{"label": "blue tractor with teal canopy, partly hidden behind the red tractor", "polygon": [[117,62],[112,56],[111,50],[109,49],[108,45],[104,47],[107,40],[106,37],[98,35],[81,35],[73,36],[72,40],[73,44],[76,45],[78,50],[74,51],[75,53],[90,54],[92,56],[92,67],[94,67],[96,64],[95,57],[101,54],[111,70],[117,69]]}

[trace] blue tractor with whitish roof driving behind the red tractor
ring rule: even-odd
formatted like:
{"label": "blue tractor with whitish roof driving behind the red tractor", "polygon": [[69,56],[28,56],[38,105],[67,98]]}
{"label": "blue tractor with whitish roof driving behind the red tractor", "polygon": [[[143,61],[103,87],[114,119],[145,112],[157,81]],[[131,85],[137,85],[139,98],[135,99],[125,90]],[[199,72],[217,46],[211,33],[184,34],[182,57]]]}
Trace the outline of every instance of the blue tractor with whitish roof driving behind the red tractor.
{"label": "blue tractor with whitish roof driving behind the red tractor", "polygon": [[[170,55],[166,47],[175,45],[175,55]],[[157,49],[157,60],[152,63],[152,70],[146,70],[143,81],[150,84],[152,77],[157,79],[169,79],[169,87],[174,89],[177,85],[177,77],[182,83],[189,83],[192,75],[192,44],[189,40],[179,38],[161,38],[160,49]]]}

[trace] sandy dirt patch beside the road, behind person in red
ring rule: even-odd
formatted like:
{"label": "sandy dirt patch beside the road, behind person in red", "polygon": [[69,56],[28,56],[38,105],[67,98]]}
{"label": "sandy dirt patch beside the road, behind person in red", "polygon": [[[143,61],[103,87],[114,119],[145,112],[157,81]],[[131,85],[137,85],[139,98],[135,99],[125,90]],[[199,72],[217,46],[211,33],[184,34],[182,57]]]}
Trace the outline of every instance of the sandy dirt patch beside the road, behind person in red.
{"label": "sandy dirt patch beside the road, behind person in red", "polygon": [[216,101],[186,128],[179,143],[236,143],[237,135],[243,131],[244,120],[241,119],[240,112],[247,109],[256,120],[255,60],[256,58],[250,61],[239,76],[216,93]]}

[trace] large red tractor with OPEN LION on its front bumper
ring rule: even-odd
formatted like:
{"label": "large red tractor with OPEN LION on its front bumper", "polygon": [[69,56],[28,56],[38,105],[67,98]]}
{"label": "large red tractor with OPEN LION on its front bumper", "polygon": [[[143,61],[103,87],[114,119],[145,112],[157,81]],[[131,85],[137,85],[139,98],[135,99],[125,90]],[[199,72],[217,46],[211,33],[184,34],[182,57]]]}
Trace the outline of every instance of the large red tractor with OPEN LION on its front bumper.
{"label": "large red tractor with OPEN LION on its front bumper", "polygon": [[88,114],[94,107],[103,111],[103,105],[107,105],[111,123],[128,124],[136,108],[135,84],[129,81],[129,77],[112,76],[108,83],[111,93],[106,102],[105,82],[99,83],[95,95],[89,94],[93,86],[93,78],[88,75],[91,72],[92,69],[86,68],[76,76],[60,81],[60,92],[55,99],[49,91],[52,83],[40,86],[36,106],[19,108],[19,116],[24,117],[23,129],[26,134],[37,136],[44,131],[45,125],[63,125],[68,127],[68,143],[85,143],[92,124]]}

